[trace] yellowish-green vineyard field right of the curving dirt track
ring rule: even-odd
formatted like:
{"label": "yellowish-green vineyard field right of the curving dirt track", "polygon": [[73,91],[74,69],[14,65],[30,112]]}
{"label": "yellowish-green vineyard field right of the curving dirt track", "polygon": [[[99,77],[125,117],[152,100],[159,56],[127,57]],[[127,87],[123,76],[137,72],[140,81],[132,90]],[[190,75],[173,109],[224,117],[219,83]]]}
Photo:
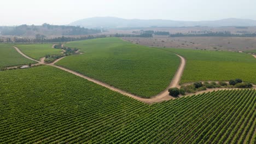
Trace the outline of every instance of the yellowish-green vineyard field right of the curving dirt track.
{"label": "yellowish-green vineyard field right of the curving dirt track", "polygon": [[256,83],[256,58],[246,53],[161,48],[182,55],[186,66],[181,83],[242,79]]}

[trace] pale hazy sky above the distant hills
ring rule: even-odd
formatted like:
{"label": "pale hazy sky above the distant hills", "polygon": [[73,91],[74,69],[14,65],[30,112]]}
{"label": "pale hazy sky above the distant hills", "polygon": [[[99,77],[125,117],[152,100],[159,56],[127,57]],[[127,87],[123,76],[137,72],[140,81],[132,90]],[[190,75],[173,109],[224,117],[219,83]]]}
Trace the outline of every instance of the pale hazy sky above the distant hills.
{"label": "pale hazy sky above the distant hills", "polygon": [[230,17],[256,20],[255,0],[7,0],[0,25],[66,25],[95,16],[184,21]]}

